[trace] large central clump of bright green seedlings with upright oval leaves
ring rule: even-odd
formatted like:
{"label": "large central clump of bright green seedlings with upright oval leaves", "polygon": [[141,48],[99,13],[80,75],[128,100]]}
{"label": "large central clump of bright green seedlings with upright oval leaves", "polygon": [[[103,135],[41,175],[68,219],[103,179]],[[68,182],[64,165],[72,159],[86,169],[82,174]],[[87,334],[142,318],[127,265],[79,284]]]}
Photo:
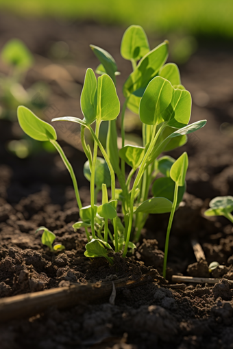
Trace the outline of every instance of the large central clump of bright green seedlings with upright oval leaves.
{"label": "large central clump of bright green seedlings with upright oval leaves", "polygon": [[[178,67],[172,63],[165,64],[168,48],[169,43],[164,41],[151,50],[145,31],[140,26],[132,25],[125,31],[121,54],[125,60],[132,62],[132,73],[123,85],[125,101],[121,108],[120,149],[116,129],[120,102],[115,87],[119,72],[112,55],[99,47],[91,45],[99,60],[96,73],[100,76],[96,78],[91,68],[86,70],[81,94],[84,118],[62,116],[52,120],[77,122],[80,125],[82,146],[87,157],[84,175],[90,181],[88,207],[82,207],[75,174],[56,140],[55,129],[38,119],[29,109],[18,109],[19,123],[25,133],[36,140],[49,140],[71,174],[80,215],[79,222],[73,224],[73,228],[86,229],[87,257],[105,257],[112,264],[114,252],[120,252],[125,257],[128,249],[136,248],[134,242],[138,242],[149,214],[170,213],[164,276],[173,216],[185,191],[188,156],[183,153],[177,160],[160,156],[184,145],[189,133],[206,124],[206,120],[200,120],[188,125],[191,94],[182,86]],[[140,118],[143,146],[126,144],[126,109]],[[106,148],[99,139],[99,128],[103,121],[108,122]],[[85,130],[93,138],[93,148],[86,143]],[[97,157],[98,151],[103,158]],[[125,164],[131,168],[127,176]],[[116,178],[120,188],[116,188]],[[107,188],[110,188],[109,192]],[[99,191],[102,192],[102,203],[98,206]],[[123,220],[117,216],[120,209]]]}

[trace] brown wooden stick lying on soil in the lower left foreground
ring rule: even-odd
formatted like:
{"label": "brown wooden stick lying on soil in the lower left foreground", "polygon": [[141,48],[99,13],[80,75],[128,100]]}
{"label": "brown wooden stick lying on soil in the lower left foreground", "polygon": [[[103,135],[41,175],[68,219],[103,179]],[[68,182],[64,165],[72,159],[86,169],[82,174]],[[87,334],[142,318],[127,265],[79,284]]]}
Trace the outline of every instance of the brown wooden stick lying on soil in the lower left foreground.
{"label": "brown wooden stick lying on soil in the lower left foreground", "polygon": [[[116,289],[121,287],[136,287],[148,281],[155,281],[156,273],[151,272],[138,280],[123,278],[114,281]],[[94,300],[109,297],[112,294],[112,281],[86,285],[71,285],[68,287],[46,289],[41,292],[21,294],[2,298],[0,300],[0,321],[29,318],[42,313],[49,307],[64,309],[78,304],[90,303]]]}

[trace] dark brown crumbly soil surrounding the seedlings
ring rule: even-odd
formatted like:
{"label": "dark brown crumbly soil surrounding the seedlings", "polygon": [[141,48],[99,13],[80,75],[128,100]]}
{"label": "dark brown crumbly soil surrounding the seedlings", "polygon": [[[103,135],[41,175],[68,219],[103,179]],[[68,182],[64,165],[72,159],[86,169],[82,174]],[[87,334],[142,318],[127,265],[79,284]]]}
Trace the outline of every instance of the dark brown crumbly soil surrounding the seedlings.
{"label": "dark brown crumbly soil surrounding the seedlings", "polygon": [[[130,64],[119,55],[122,28],[32,21],[6,14],[0,19],[1,45],[16,36],[36,54],[25,86],[37,79],[47,81],[51,88],[49,105],[56,106],[56,113],[81,116],[71,88],[78,96],[86,68],[97,66],[89,43],[107,49],[119,63],[121,91],[130,72]],[[149,40],[153,46],[157,38],[151,35]],[[51,57],[49,49],[56,41],[69,44],[66,58]],[[232,225],[225,218],[203,216],[211,198],[233,195],[233,53],[229,50],[224,45],[218,48],[202,43],[191,60],[181,66],[182,83],[193,95],[192,121],[206,118],[208,122],[191,135],[186,146],[170,154],[177,157],[187,151],[189,168],[187,193],[171,231],[169,283],[173,274],[210,276],[208,264],[212,261],[221,266],[211,276],[221,281],[214,286],[186,284],[183,289],[171,289],[160,277],[160,283],[151,281],[135,289],[122,289],[116,294],[115,305],[103,300],[65,311],[48,309],[29,319],[1,324],[2,349],[232,348],[233,289],[228,282],[233,280]],[[58,75],[58,64],[62,64],[72,77],[69,86],[64,88],[58,75],[52,78],[45,74],[49,64],[56,64]],[[0,68],[6,71],[2,64]],[[5,144],[16,137],[15,128],[16,124],[0,120],[0,297],[70,283],[113,281],[125,276],[137,279],[151,268],[162,272],[168,215],[149,217],[136,252],[125,261],[117,258],[110,267],[105,259],[87,259],[84,231],[72,228],[79,211],[69,174],[56,153],[42,151],[27,159],[8,153]],[[64,141],[61,144],[77,174],[82,202],[88,205],[88,182],[82,175],[86,158],[78,150],[79,138],[72,131],[60,130],[60,139],[69,138],[76,149]],[[64,251],[53,254],[42,246],[41,233],[35,235],[41,225],[56,233],[56,242],[66,246]],[[195,261],[193,237],[203,247],[206,261]]]}

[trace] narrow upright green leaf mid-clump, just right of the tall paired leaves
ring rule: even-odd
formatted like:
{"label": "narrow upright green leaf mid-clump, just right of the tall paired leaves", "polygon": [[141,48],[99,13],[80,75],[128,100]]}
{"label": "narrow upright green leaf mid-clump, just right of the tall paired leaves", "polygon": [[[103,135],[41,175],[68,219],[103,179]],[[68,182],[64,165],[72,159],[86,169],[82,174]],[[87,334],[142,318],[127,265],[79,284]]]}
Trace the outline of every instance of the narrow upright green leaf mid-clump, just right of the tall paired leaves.
{"label": "narrow upright green leaf mid-clump, just right of the tall paired leaves", "polygon": [[117,148],[117,131],[116,120],[108,122],[108,135],[107,135],[107,154],[111,161],[112,168],[115,173],[120,171],[119,167],[119,153]]}

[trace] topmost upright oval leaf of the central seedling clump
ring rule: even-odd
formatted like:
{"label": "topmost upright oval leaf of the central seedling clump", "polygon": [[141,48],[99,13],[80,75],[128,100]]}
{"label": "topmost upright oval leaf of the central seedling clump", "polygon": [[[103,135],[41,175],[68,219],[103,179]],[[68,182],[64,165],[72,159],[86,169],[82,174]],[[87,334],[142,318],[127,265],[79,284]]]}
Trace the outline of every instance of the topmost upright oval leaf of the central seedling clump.
{"label": "topmost upright oval leaf of the central seedling clump", "polygon": [[121,41],[121,55],[125,60],[138,61],[149,52],[147,35],[140,25],[131,25],[125,30]]}

